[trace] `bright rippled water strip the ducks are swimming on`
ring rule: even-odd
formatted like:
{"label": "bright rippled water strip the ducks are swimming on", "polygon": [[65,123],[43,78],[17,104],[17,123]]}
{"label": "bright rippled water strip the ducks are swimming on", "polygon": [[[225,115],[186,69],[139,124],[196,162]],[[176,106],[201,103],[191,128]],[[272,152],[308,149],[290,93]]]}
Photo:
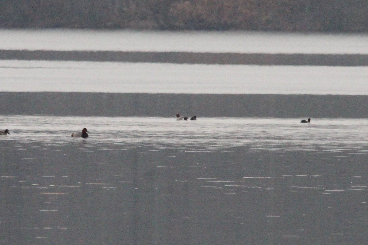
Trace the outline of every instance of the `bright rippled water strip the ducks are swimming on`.
{"label": "bright rippled water strip the ducks are swimming on", "polygon": [[106,144],[132,148],[149,145],[188,150],[241,146],[255,151],[321,149],[336,152],[347,148],[365,152],[368,145],[366,119],[312,119],[312,123],[304,124],[299,119],[274,118],[177,121],[174,117],[6,116],[1,119],[1,125],[12,127],[12,135],[2,140],[42,141],[61,146],[79,144],[70,134],[83,127],[90,132],[88,141],[84,142],[91,146]]}

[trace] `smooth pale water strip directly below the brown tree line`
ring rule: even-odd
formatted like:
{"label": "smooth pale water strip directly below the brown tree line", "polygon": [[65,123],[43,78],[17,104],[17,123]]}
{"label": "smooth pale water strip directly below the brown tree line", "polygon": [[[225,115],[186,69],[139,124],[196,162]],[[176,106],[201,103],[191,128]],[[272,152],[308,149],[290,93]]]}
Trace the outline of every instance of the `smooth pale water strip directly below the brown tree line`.
{"label": "smooth pale water strip directly below the brown tree line", "polygon": [[0,36],[0,49],[15,50],[368,54],[367,34],[3,29]]}

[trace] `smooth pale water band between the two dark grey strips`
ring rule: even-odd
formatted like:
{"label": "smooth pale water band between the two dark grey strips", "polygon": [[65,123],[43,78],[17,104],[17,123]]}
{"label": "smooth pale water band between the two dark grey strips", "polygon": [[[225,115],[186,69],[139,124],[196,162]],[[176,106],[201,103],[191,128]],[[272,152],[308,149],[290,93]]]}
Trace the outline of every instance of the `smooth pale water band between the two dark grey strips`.
{"label": "smooth pale water band between the two dark grey strips", "polygon": [[0,91],[368,94],[368,67],[0,60]]}

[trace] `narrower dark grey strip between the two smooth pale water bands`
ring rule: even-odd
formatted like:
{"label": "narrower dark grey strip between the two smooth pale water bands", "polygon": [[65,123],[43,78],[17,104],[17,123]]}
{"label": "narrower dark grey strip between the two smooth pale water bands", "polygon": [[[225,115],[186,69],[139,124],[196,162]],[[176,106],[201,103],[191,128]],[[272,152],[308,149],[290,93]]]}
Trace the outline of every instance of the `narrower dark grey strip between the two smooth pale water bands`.
{"label": "narrower dark grey strip between the two smooth pale water bands", "polygon": [[368,54],[0,50],[0,60],[145,62],[220,65],[368,66]]}

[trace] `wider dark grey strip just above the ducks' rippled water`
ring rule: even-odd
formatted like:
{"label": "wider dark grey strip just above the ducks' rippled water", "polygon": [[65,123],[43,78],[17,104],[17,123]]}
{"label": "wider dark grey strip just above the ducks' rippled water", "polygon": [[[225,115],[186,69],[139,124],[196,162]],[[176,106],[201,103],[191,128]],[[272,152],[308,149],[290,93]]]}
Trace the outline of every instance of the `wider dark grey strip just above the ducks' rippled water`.
{"label": "wider dark grey strip just above the ducks' rippled water", "polygon": [[368,118],[368,96],[0,92],[0,115]]}

